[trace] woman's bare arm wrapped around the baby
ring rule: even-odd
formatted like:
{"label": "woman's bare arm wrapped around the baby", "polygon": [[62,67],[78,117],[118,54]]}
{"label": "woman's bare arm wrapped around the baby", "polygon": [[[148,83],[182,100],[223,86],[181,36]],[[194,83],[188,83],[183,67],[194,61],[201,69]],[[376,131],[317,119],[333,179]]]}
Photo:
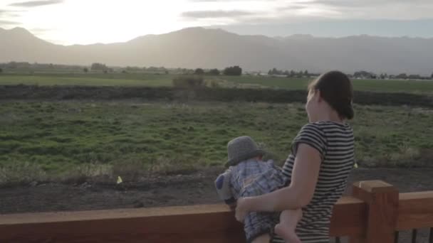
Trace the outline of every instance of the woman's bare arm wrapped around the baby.
{"label": "woman's bare arm wrapped around the baby", "polygon": [[299,144],[291,184],[286,188],[257,197],[240,198],[236,207],[236,219],[243,221],[248,212],[281,212],[308,205],[313,198],[320,171],[321,156],[308,144]]}

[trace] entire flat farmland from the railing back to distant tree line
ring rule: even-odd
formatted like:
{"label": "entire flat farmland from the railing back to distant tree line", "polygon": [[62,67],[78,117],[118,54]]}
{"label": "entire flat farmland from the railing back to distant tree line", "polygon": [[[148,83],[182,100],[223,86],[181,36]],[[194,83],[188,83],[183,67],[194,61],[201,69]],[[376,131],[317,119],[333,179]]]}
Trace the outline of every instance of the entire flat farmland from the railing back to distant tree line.
{"label": "entire flat farmland from the railing back to distant tree line", "polygon": [[[219,203],[230,139],[252,136],[281,166],[307,122],[308,78],[204,76],[184,90],[177,76],[1,73],[0,213]],[[353,84],[350,183],[431,190],[433,82]]]}

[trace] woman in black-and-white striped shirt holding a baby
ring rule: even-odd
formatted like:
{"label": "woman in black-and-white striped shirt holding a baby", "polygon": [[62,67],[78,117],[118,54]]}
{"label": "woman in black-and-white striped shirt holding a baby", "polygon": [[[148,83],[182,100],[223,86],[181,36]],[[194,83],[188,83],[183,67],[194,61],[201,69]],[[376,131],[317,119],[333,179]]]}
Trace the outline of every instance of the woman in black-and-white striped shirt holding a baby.
{"label": "woman in black-and-white striped shirt holding a baby", "polygon": [[[343,72],[320,75],[308,87],[306,111],[309,123],[293,140],[291,155],[283,166],[286,187],[265,195],[240,198],[236,219],[248,212],[281,212],[302,208],[296,234],[304,243],[329,242],[330,217],[343,195],[354,165],[352,128],[353,87]],[[283,242],[286,233],[276,225],[275,234],[262,235],[260,242]]]}

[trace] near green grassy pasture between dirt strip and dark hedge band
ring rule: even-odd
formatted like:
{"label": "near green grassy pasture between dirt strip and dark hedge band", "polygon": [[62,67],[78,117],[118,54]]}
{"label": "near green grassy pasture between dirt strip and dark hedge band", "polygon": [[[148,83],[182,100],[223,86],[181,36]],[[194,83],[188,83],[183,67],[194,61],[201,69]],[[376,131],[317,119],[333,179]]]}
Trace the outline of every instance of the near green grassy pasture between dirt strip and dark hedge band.
{"label": "near green grassy pasture between dirt strip and dark hedge band", "polygon": [[[432,109],[355,110],[360,166],[429,165]],[[305,123],[303,104],[2,102],[0,182],[186,173],[221,166],[227,141],[245,134],[281,164]]]}

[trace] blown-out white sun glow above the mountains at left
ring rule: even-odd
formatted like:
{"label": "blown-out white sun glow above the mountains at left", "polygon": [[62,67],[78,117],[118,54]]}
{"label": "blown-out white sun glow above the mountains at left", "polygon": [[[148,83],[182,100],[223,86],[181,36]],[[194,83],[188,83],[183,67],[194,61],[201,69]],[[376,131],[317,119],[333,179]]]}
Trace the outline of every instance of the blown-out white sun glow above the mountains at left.
{"label": "blown-out white sun glow above the mountains at left", "polygon": [[17,21],[56,43],[116,43],[184,28],[179,18],[184,6],[184,0],[69,0],[29,9]]}

